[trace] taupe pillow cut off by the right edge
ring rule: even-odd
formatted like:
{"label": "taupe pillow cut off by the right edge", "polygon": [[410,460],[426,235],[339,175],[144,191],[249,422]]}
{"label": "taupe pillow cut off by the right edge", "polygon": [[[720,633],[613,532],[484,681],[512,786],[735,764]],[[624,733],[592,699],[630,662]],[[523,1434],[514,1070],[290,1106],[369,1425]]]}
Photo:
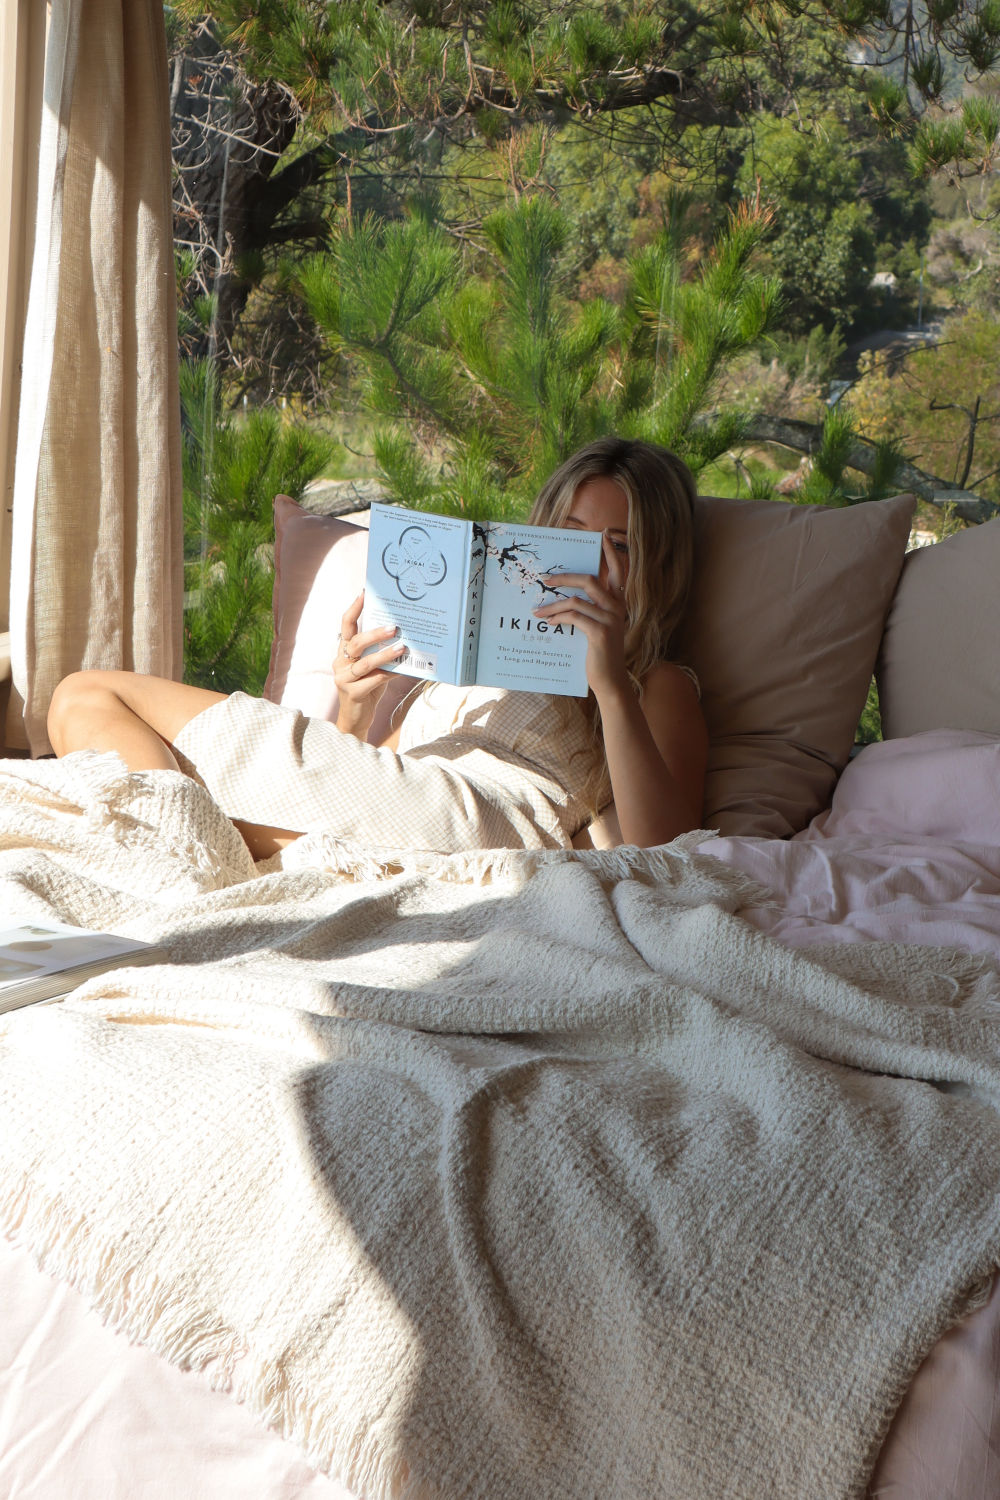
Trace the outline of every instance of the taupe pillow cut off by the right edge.
{"label": "taupe pillow cut off by the right edge", "polygon": [[1000,734],[1000,519],[910,552],[876,680],[886,740]]}

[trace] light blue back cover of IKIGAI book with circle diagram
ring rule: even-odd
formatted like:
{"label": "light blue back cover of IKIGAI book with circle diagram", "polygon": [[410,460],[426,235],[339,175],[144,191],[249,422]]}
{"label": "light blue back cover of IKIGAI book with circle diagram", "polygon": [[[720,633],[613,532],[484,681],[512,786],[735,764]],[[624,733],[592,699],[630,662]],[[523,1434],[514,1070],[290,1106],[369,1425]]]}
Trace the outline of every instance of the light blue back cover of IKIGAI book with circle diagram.
{"label": "light blue back cover of IKIGAI book with circle diagram", "polygon": [[388,670],[459,681],[471,534],[454,516],[372,506],[361,630],[399,627],[408,650]]}

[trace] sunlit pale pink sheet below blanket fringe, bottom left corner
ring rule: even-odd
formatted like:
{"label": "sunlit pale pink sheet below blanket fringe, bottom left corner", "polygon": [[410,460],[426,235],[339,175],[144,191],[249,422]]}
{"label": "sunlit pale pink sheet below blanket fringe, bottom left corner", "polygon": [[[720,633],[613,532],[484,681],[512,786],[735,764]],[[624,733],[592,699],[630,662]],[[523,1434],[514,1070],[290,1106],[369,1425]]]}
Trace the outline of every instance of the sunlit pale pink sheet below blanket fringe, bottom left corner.
{"label": "sunlit pale pink sheet below blanket fringe, bottom left corner", "polygon": [[0,1236],[4,1500],[354,1500],[246,1407],[130,1344]]}

